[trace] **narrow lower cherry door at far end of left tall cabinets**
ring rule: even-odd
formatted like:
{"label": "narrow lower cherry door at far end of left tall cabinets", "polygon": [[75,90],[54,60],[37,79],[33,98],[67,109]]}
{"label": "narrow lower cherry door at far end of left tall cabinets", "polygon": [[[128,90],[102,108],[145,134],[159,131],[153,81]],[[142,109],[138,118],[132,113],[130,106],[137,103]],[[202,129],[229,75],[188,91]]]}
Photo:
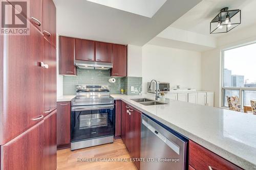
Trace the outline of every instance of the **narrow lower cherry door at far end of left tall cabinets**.
{"label": "narrow lower cherry door at far end of left tall cabinets", "polygon": [[57,168],[56,121],[56,110],[45,117],[44,120],[44,169],[47,170],[53,170]]}

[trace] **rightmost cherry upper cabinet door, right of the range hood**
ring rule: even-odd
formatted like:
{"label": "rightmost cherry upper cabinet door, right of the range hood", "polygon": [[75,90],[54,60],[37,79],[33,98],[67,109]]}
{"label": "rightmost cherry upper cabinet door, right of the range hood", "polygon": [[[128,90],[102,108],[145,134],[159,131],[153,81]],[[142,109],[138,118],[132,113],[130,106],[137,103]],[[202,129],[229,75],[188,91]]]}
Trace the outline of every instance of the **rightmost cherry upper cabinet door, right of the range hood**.
{"label": "rightmost cherry upper cabinet door, right of the range hood", "polygon": [[126,77],[127,48],[125,45],[113,44],[113,68],[111,76]]}

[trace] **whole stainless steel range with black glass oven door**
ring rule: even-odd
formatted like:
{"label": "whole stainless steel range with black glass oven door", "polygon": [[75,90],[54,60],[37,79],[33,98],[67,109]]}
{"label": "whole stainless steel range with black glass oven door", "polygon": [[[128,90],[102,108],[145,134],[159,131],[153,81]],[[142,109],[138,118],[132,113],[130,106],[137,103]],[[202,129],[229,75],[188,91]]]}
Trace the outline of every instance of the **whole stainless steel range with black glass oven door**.
{"label": "whole stainless steel range with black glass oven door", "polygon": [[77,85],[71,101],[71,150],[113,142],[114,99],[109,85]]}

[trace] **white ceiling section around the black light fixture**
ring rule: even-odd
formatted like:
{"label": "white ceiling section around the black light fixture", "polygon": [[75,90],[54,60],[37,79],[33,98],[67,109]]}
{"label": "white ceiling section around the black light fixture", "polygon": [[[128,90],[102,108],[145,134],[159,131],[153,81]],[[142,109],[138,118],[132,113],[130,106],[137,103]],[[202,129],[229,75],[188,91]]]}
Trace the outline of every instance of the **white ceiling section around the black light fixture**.
{"label": "white ceiling section around the black light fixture", "polygon": [[210,21],[224,7],[242,10],[241,25],[231,30],[229,33],[238,29],[243,29],[256,22],[255,0],[203,0],[197,6],[189,10],[186,14],[172,23],[170,27],[215,37],[225,36],[229,33],[209,34]]}

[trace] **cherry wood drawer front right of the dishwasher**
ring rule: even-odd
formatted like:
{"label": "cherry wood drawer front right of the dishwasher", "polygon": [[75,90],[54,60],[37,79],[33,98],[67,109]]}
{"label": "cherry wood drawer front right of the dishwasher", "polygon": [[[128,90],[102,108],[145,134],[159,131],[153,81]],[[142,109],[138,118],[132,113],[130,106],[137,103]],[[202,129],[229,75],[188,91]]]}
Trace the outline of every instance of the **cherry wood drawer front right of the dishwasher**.
{"label": "cherry wood drawer front right of the dishwasher", "polygon": [[226,159],[189,140],[188,163],[196,170],[229,170],[241,169]]}

